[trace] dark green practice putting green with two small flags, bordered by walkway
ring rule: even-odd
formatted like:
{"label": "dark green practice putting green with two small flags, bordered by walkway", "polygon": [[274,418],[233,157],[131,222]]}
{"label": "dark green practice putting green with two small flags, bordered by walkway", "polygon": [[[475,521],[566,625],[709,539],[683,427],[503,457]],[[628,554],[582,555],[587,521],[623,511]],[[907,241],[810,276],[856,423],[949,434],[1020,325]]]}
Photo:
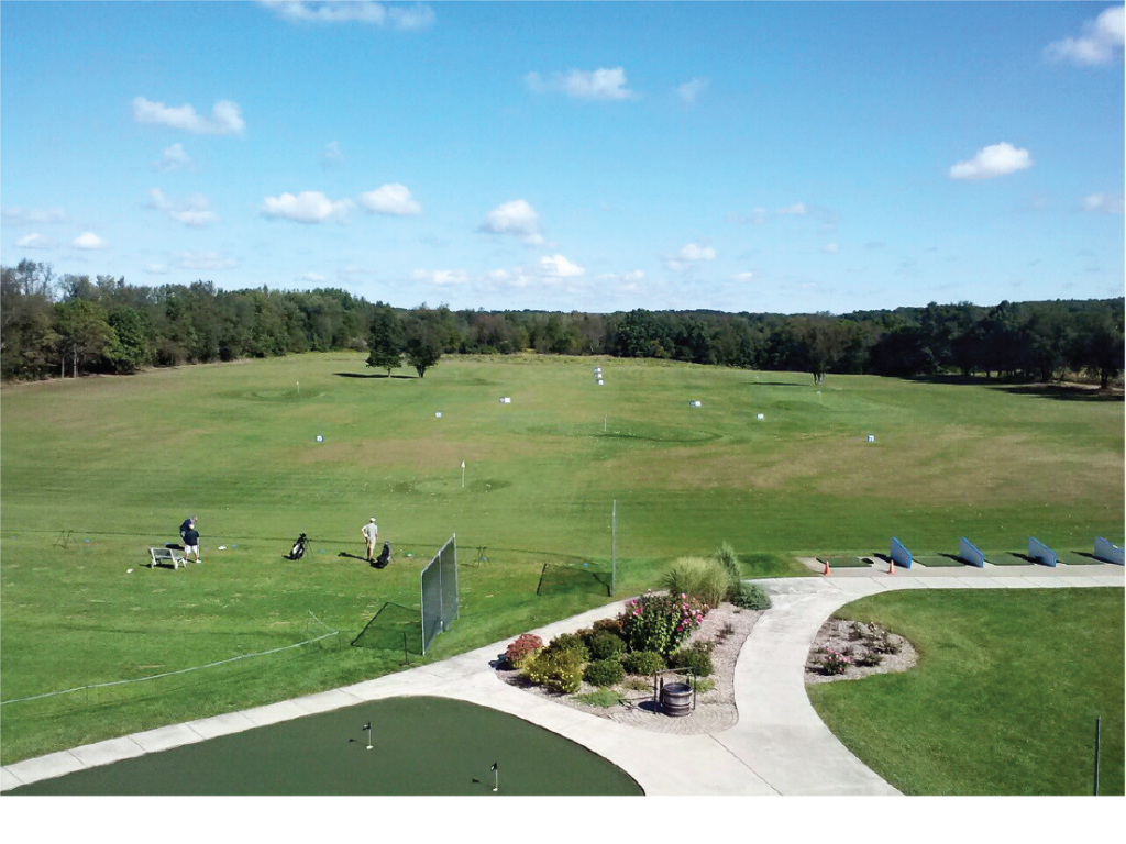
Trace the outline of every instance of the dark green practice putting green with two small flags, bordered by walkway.
{"label": "dark green practice putting green with two small flags, bordered by walkway", "polygon": [[[368,722],[372,751],[363,729]],[[561,736],[492,709],[437,698],[399,698],[311,716],[81,771],[11,794],[644,796],[620,769]]]}

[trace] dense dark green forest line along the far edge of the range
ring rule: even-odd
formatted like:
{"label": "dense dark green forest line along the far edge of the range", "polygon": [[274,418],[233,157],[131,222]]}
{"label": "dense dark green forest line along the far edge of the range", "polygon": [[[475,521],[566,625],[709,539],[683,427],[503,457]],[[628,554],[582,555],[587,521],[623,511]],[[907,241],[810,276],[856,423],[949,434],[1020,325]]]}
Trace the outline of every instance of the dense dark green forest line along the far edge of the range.
{"label": "dense dark green forest line along the far edge of the range", "polygon": [[0,267],[0,379],[131,374],[306,351],[403,358],[420,376],[444,353],[609,354],[763,370],[1051,381],[1084,374],[1103,388],[1126,370],[1126,299],[968,303],[808,314],[404,311],[343,290],[137,287]]}

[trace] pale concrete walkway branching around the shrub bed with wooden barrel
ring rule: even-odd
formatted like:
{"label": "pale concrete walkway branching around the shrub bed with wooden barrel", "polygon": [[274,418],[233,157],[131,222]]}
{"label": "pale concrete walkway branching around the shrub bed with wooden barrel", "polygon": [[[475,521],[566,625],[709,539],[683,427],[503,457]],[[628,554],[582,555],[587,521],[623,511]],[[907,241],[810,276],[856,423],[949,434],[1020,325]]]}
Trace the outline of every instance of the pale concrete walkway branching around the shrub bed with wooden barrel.
{"label": "pale concrete walkway branching around the shrub bed with wooden barrel", "polygon": [[[844,604],[904,589],[1126,586],[1126,569],[965,573],[926,569],[895,577],[852,569],[832,578],[763,581],[775,609],[756,625],[735,666],[739,724],[724,733],[671,736],[637,730],[528,694],[500,681],[489,663],[507,641],[322,694],[116,738],[0,767],[0,791],[160,753],[218,736],[366,701],[399,697],[463,700],[508,712],[580,744],[628,773],[650,797],[894,796],[817,717],[805,692],[805,662],[825,619]],[[620,604],[551,625],[545,640],[609,618]]]}

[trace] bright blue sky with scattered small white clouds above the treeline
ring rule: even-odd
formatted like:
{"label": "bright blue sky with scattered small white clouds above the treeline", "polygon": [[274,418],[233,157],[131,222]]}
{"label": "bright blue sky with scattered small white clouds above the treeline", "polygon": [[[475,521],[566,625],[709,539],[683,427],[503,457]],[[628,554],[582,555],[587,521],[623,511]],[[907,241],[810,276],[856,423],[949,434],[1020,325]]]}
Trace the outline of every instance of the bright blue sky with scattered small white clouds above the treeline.
{"label": "bright blue sky with scattered small white clouds above the treeline", "polygon": [[400,306],[1126,295],[1126,7],[3,0],[0,263]]}

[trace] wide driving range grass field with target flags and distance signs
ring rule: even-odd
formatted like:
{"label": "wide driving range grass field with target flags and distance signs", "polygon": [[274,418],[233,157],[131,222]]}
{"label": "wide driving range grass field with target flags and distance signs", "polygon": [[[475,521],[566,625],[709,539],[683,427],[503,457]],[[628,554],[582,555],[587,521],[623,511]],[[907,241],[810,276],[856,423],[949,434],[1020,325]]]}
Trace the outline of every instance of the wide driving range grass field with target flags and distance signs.
{"label": "wide driving range grass field with target flags and distance signs", "polygon": [[[386,379],[339,353],[0,389],[0,700],[285,647],[324,632],[310,613],[341,631],[0,707],[0,763],[399,670],[390,646],[418,610],[418,574],[455,532],[463,563],[479,546],[489,562],[463,567],[461,621],[428,658],[606,602],[614,500],[622,595],[722,541],[767,577],[892,535],[918,553],[963,535],[1123,539],[1126,404],[870,377],[817,389],[805,375],[530,356]],[[189,514],[205,565],[142,568]],[[340,556],[363,554],[373,514],[396,553],[382,573]],[[284,562],[302,531],[309,557]],[[537,595],[547,564],[573,576]],[[388,647],[349,647],[388,604],[375,637]]]}

